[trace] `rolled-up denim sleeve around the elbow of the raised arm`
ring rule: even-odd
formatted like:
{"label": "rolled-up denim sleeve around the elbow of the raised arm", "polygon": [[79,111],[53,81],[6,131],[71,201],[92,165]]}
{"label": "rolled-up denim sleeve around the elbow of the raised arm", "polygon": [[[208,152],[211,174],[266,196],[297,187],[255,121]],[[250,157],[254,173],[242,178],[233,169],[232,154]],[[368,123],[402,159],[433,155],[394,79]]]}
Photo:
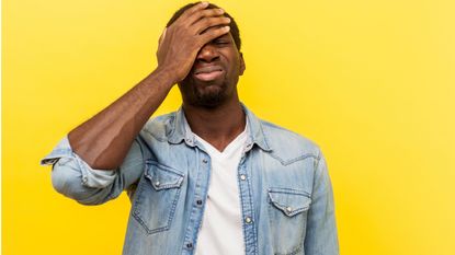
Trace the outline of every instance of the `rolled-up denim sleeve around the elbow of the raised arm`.
{"label": "rolled-up denim sleeve around the elbow of the raised arm", "polygon": [[99,205],[134,187],[144,170],[144,155],[135,140],[118,169],[94,170],[72,151],[65,137],[41,164],[53,165],[52,182],[58,193],[83,205]]}

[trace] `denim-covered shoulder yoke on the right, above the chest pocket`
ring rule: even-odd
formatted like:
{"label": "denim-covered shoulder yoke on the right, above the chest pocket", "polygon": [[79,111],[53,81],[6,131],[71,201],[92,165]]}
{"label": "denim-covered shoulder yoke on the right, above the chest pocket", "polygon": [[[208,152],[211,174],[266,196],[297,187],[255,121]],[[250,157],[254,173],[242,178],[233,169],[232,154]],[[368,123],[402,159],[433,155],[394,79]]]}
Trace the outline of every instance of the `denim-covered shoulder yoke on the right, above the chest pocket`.
{"label": "denim-covered shoulder yoke on the right, above the chest pocket", "polygon": [[319,146],[307,137],[263,119],[261,124],[272,153],[283,162],[320,157]]}

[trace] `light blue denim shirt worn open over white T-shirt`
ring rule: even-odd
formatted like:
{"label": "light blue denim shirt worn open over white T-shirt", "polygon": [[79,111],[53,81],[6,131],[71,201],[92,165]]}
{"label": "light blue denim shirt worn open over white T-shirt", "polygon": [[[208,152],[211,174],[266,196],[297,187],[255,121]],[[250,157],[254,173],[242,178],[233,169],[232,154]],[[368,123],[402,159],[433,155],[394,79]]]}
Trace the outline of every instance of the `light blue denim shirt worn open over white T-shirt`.
{"label": "light blue denim shirt worn open over white T-shirt", "polygon": [[[319,148],[243,111],[249,134],[237,176],[244,253],[339,254],[332,188]],[[67,138],[42,164],[53,164],[57,192],[83,205],[100,205],[127,192],[132,209],[124,255],[193,254],[211,158],[184,120],[182,108],[149,120],[115,171],[90,169]]]}

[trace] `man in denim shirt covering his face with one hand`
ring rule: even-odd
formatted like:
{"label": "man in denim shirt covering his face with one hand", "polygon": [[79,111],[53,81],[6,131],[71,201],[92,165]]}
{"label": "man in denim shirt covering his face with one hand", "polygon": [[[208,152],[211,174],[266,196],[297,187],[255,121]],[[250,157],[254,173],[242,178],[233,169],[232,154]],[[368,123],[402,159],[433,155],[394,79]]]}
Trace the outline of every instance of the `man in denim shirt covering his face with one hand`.
{"label": "man in denim shirt covering his face with one hand", "polygon": [[[325,159],[240,103],[240,46],[221,9],[182,8],[157,69],[43,159],[54,187],[81,204],[128,192],[123,254],[339,253]],[[175,83],[183,106],[148,120]]]}

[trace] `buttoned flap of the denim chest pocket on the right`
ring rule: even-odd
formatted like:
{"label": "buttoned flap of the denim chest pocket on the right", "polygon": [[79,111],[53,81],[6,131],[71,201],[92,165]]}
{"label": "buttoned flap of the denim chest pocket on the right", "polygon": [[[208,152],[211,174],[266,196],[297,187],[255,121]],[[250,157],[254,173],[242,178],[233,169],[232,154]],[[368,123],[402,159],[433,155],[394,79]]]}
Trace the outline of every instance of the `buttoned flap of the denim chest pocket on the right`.
{"label": "buttoned flap of the denim chest pocket on the right", "polygon": [[308,193],[295,189],[270,188],[269,197],[272,205],[288,217],[308,210],[311,204]]}

